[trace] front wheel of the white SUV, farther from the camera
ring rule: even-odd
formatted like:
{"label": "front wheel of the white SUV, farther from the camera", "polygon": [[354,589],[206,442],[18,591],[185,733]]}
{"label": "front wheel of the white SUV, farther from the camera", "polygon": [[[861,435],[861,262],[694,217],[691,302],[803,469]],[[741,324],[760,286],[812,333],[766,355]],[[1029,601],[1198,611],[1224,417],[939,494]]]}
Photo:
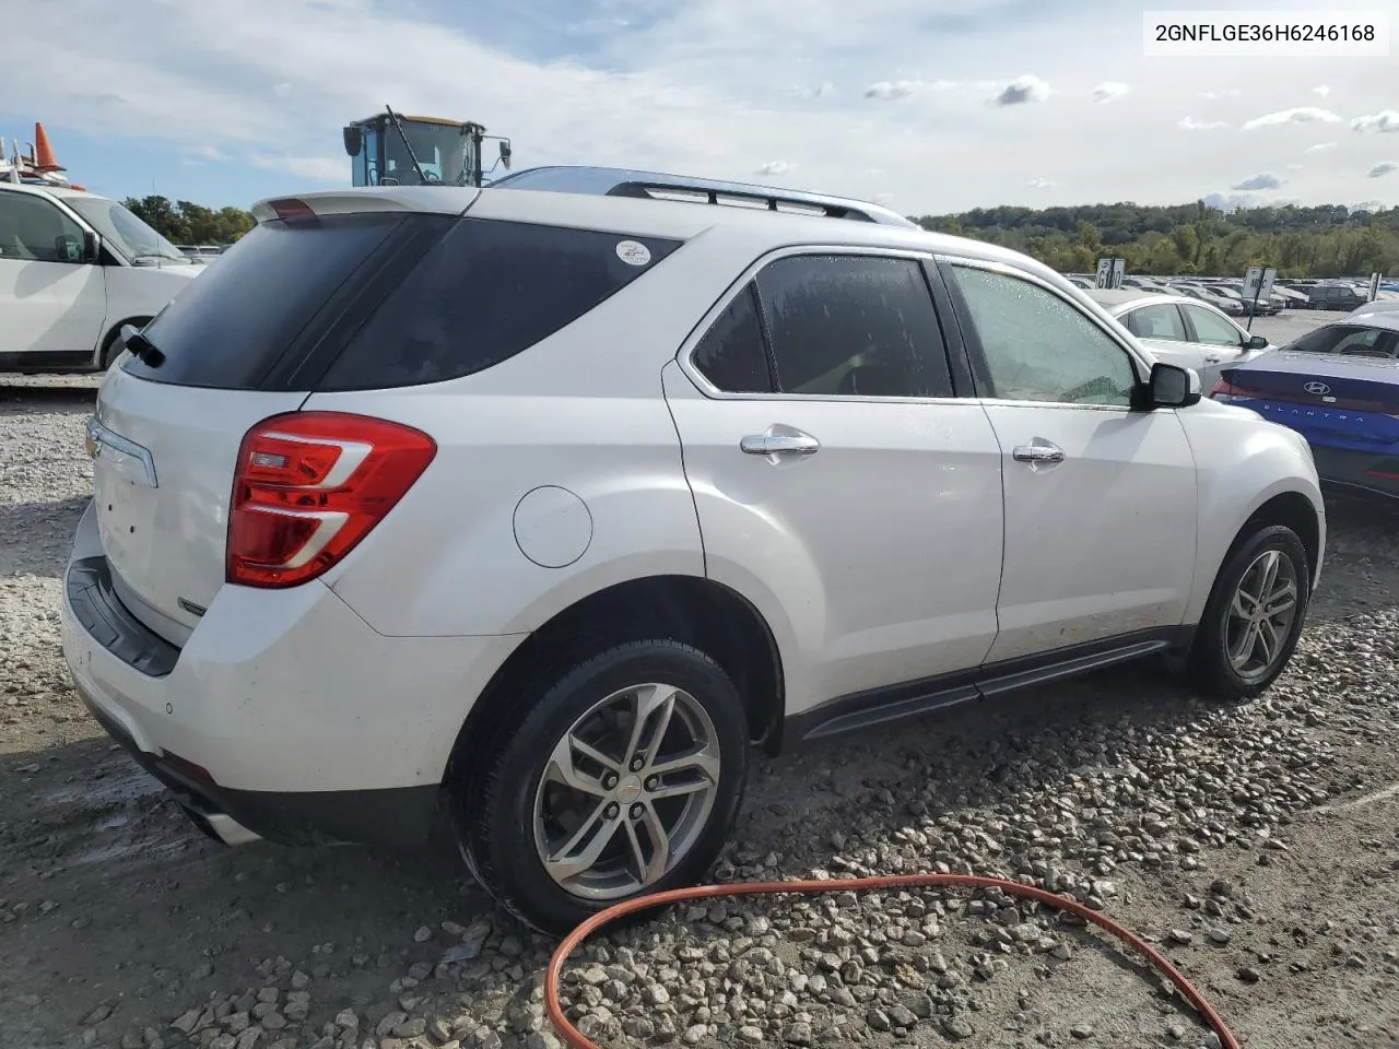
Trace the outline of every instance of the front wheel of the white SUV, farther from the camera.
{"label": "front wheel of the white SUV, farther from the camera", "polygon": [[1262,694],[1287,667],[1311,600],[1311,565],[1297,533],[1259,527],[1224,559],[1189,653],[1206,695],[1238,702]]}

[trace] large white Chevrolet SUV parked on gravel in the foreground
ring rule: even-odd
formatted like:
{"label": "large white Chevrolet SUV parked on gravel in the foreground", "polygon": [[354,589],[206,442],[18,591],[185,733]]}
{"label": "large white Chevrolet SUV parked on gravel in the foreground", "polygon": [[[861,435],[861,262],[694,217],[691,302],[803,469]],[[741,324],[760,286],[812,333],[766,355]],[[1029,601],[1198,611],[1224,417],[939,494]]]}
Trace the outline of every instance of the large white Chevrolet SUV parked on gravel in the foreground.
{"label": "large white Chevrolet SUV parked on gravel in the foreground", "polygon": [[63,599],[227,842],[441,806],[560,930],[702,877],[751,744],[1153,653],[1251,697],[1297,641],[1305,442],[1031,259],[599,169],[255,214],[102,385]]}

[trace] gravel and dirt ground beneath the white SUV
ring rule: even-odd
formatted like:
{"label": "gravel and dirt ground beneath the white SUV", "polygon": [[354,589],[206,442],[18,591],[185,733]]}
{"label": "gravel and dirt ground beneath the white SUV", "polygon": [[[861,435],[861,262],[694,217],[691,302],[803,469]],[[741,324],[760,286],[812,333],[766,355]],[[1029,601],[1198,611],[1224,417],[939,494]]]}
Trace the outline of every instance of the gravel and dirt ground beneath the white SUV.
{"label": "gravel and dirt ground beneath the white SUV", "polygon": [[[0,1046],[557,1045],[551,943],[442,842],[227,849],[85,715],[56,608],[94,386],[0,382]],[[1023,877],[1160,943],[1249,1046],[1399,1045],[1399,512],[1330,515],[1265,699],[1128,667],[760,762],[715,877]],[[677,908],[586,945],[567,1004],[616,1046],[1213,1045],[1105,937],[995,894]]]}

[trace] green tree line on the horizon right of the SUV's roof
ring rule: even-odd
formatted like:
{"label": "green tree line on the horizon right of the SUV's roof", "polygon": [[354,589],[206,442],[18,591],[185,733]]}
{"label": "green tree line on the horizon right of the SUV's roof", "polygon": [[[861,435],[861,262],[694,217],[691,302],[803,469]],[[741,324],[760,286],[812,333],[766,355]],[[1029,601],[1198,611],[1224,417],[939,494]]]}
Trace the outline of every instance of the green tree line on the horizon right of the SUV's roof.
{"label": "green tree line on the horizon right of the SUV's roof", "polygon": [[1399,273],[1399,208],[1351,211],[1325,204],[1224,211],[1205,201],[1122,203],[974,208],[914,221],[1024,252],[1060,273],[1093,273],[1108,255],[1125,259],[1128,273],[1146,274],[1238,276],[1249,266],[1276,266],[1280,277]]}

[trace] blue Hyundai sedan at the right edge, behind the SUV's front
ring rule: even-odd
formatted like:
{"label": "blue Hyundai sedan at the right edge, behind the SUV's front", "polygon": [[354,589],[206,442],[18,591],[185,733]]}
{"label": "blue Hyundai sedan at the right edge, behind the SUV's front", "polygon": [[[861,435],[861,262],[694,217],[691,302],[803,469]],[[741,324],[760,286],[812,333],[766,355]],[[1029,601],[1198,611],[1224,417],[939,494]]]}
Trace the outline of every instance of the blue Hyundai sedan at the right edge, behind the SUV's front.
{"label": "blue Hyundai sedan at the right edge, behind the SUV's front", "polygon": [[1220,371],[1210,393],[1298,431],[1322,481],[1399,499],[1399,311],[1365,311]]}

